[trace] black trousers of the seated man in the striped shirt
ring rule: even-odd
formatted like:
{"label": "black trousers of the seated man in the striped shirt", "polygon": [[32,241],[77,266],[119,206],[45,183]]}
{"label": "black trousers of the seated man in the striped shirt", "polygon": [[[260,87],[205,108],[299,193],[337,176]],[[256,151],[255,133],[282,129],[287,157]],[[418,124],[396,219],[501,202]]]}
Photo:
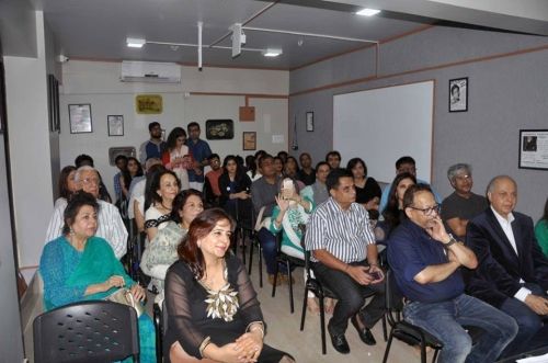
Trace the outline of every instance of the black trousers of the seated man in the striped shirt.
{"label": "black trousers of the seated man in the striped shirt", "polygon": [[[368,266],[365,260],[351,264]],[[329,321],[330,331],[343,334],[349,327],[349,319],[356,314],[359,314],[365,327],[369,329],[383,318],[385,315],[384,282],[375,285],[359,285],[346,273],[330,269],[321,262],[313,263],[312,268],[321,284],[331,290],[339,298],[333,317]],[[374,294],[373,299],[365,305],[365,298],[372,294]]]}

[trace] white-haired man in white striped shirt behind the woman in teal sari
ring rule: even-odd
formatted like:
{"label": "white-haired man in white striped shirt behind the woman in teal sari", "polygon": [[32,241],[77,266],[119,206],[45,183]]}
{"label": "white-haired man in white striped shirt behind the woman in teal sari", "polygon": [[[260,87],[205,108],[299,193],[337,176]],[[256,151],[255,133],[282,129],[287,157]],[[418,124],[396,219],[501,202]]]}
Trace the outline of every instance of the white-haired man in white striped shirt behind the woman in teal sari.
{"label": "white-haired man in white striped shirt behind the woman in teal sari", "polygon": [[[79,190],[99,196],[99,173],[92,167],[80,167],[75,174],[75,182]],[[111,203],[98,200],[98,231],[95,236],[104,238],[112,247],[114,254],[119,260],[127,250],[127,230],[118,209]],[[61,235],[65,225],[64,213],[66,203],[58,204],[47,227],[46,243]]]}

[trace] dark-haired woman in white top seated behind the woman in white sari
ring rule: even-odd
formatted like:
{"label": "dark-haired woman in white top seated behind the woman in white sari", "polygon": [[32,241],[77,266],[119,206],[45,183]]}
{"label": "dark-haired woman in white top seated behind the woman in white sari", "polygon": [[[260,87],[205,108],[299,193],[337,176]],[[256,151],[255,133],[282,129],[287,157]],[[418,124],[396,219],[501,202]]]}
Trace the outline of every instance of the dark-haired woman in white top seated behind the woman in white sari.
{"label": "dark-haired woman in white top seated behind the woman in white sari", "polygon": [[145,212],[145,231],[151,241],[158,229],[164,228],[171,218],[173,200],[181,190],[179,178],[171,170],[162,170],[152,175],[150,188],[147,189],[147,202],[150,206]]}

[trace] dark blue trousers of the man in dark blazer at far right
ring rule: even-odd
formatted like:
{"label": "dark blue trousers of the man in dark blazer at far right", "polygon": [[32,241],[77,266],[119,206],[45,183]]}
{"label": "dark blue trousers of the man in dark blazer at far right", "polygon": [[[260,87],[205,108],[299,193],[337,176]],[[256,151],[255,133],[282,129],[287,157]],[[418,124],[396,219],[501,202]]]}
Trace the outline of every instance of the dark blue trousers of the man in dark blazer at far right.
{"label": "dark blue trousers of the man in dark blazer at far right", "polygon": [[[536,284],[524,284],[525,287],[538,296],[546,296],[543,288]],[[541,317],[533,311],[525,303],[509,297],[501,305],[501,310],[510,315],[517,322],[520,331],[514,341],[503,352],[503,356],[512,356],[532,351],[548,343],[548,325],[543,324]]]}

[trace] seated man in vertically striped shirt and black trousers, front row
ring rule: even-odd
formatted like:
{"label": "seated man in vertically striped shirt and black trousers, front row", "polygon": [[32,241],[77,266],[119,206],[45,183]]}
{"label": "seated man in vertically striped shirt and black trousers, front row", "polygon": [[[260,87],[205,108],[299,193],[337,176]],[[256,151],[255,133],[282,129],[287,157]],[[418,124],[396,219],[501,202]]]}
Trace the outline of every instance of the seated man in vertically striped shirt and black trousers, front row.
{"label": "seated man in vertically striped shirt and black trousers, front row", "polygon": [[[377,245],[367,211],[355,203],[352,174],[334,169],[326,185],[331,196],[311,215],[305,243],[312,251],[316,275],[339,298],[328,330],[333,348],[346,354],[349,319],[364,343],[376,343],[369,329],[385,314],[384,274],[377,265]],[[364,307],[372,294],[373,299]]]}

